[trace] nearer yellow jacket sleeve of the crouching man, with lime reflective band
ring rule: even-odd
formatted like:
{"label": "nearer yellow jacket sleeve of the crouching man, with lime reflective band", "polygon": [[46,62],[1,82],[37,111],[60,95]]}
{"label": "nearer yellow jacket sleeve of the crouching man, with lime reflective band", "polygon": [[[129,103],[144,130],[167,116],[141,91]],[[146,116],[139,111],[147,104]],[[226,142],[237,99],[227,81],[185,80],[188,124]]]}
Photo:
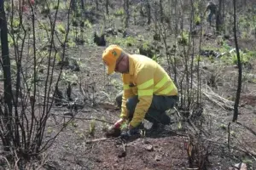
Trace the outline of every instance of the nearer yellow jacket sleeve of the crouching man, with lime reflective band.
{"label": "nearer yellow jacket sleeve of the crouching man, with lime reflective band", "polygon": [[154,72],[152,69],[141,69],[137,72],[137,95],[139,102],[134,111],[133,118],[130,122],[132,127],[137,127],[143,119],[150,107],[154,93]]}

